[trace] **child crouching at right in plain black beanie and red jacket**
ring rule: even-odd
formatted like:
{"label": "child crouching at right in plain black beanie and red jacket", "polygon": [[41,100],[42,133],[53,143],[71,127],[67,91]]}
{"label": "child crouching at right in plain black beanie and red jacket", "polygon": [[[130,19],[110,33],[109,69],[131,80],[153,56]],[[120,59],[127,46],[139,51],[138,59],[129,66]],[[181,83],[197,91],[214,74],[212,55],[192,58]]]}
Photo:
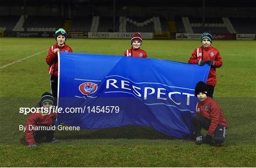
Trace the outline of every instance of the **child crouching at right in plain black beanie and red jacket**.
{"label": "child crouching at right in plain black beanie and red jacket", "polygon": [[[215,144],[224,143],[227,121],[219,104],[208,96],[208,87],[202,81],[197,83],[195,95],[199,100],[196,104],[196,114],[192,117],[196,144],[207,143],[212,145],[212,135],[214,135]],[[207,130],[205,138],[202,137],[201,128]]]}

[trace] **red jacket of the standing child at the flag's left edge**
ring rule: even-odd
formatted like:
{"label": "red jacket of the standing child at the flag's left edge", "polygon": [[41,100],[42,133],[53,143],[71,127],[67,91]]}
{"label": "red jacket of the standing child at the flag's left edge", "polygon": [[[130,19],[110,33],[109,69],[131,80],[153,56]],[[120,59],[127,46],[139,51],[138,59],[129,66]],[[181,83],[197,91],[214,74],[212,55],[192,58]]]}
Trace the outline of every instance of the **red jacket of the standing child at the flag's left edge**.
{"label": "red jacket of the standing child at the flag's left edge", "polygon": [[71,47],[66,44],[60,47],[58,43],[56,43],[49,48],[48,55],[46,57],[46,63],[49,65],[49,74],[54,76],[58,76],[58,53],[53,52],[53,50],[56,48],[60,49],[60,52],[73,52]]}

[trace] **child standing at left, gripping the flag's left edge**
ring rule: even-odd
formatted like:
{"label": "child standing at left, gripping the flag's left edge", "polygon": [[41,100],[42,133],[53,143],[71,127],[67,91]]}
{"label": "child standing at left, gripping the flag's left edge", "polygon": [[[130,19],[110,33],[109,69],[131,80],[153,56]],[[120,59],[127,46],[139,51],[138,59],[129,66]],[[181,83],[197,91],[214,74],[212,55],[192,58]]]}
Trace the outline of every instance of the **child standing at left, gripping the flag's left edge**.
{"label": "child standing at left, gripping the flag's left edge", "polygon": [[[73,52],[73,50],[65,43],[67,33],[64,29],[60,28],[55,32],[55,40],[57,43],[49,48],[46,63],[49,65],[48,72],[51,76],[51,93],[56,98],[58,94],[58,52]],[[54,105],[56,105],[56,100]]]}

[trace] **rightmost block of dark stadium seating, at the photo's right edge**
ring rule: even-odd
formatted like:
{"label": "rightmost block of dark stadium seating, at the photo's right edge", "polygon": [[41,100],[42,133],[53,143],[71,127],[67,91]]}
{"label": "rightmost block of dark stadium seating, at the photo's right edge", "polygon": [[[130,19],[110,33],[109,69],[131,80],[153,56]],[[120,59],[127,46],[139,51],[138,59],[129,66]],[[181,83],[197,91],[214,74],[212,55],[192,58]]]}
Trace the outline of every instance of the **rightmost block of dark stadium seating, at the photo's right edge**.
{"label": "rightmost block of dark stadium seating, at the photo's right edge", "polygon": [[229,18],[237,33],[256,34],[256,18]]}

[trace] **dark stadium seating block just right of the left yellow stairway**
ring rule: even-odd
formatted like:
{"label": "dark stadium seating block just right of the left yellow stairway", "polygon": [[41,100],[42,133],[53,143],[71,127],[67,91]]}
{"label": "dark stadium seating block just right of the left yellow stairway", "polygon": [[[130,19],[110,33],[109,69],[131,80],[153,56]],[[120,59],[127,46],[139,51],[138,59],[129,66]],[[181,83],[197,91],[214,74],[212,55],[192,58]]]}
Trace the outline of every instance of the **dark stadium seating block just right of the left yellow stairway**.
{"label": "dark stadium seating block just right of the left yellow stairway", "polygon": [[73,17],[70,32],[90,32],[92,17]]}

